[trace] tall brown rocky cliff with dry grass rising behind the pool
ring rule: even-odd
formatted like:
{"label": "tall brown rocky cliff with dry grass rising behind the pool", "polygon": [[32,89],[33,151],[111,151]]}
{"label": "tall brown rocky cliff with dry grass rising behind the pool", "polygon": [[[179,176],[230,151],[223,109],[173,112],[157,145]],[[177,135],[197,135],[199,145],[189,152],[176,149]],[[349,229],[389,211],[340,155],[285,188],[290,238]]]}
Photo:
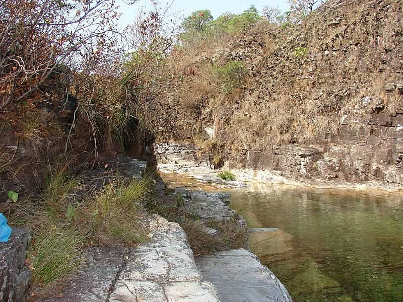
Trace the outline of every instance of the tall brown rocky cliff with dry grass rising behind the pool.
{"label": "tall brown rocky cliff with dry grass rising behind the pool", "polygon": [[197,61],[248,70],[242,90],[198,103],[215,156],[245,179],[400,188],[402,20],[401,1],[333,0]]}

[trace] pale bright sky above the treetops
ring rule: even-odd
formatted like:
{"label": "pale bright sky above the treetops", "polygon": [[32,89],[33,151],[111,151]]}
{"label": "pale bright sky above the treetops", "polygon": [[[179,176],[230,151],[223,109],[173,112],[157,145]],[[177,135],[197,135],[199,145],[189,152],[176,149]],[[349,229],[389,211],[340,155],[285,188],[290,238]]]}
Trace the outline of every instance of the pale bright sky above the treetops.
{"label": "pale bright sky above the treetops", "polygon": [[[127,5],[125,1],[116,0],[116,5],[120,6],[119,10],[122,13],[120,22],[123,26],[132,23],[141,8],[146,10],[150,8],[150,0],[139,0],[134,5]],[[160,0],[163,4],[167,1]],[[241,13],[251,5],[255,5],[259,12],[267,5],[283,11],[288,9],[287,0],[174,0],[171,11],[187,17],[194,11],[207,9],[211,11],[214,18],[217,18],[225,12]]]}

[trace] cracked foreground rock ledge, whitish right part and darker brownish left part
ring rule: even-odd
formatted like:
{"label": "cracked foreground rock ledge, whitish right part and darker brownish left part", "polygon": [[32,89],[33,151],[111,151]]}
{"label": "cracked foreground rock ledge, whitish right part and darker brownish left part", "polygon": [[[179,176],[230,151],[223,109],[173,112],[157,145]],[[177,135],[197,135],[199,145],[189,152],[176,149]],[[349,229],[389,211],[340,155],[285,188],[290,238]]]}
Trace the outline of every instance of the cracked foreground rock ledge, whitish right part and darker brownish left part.
{"label": "cracked foreground rock ledge, whitish right part and darker brownish left part", "polygon": [[85,272],[41,302],[220,302],[177,223],[153,215],[149,236],[135,249],[91,249]]}

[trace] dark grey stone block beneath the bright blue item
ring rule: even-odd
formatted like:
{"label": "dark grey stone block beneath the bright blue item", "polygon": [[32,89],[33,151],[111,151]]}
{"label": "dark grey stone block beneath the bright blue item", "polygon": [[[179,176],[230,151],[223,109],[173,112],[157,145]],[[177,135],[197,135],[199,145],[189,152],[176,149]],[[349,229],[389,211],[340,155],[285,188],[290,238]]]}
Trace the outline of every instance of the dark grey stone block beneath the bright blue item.
{"label": "dark grey stone block beneath the bright blue item", "polygon": [[28,290],[32,272],[25,265],[31,233],[13,229],[8,242],[0,243],[0,301],[20,302]]}

